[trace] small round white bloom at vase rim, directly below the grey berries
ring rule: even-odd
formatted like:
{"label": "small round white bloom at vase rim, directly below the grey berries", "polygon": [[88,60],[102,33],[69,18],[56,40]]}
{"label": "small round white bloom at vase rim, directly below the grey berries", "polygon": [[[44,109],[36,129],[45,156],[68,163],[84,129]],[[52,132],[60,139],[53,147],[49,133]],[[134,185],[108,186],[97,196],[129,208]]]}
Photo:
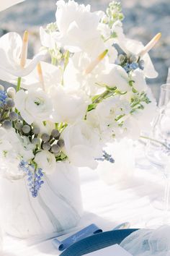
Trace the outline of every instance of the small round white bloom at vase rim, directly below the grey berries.
{"label": "small round white bloom at vase rim, directly below the grey berries", "polygon": [[42,168],[45,174],[52,174],[55,171],[55,155],[50,153],[48,150],[42,150],[35,155],[35,163],[37,166]]}

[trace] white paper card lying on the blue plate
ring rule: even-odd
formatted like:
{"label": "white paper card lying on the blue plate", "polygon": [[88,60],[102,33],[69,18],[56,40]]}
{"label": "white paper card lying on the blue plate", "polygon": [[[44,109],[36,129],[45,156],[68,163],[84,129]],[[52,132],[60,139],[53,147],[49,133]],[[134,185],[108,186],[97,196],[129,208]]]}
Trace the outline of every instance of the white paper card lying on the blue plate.
{"label": "white paper card lying on the blue plate", "polygon": [[87,256],[133,256],[133,255],[125,251],[125,249],[120,247],[120,245],[114,244],[112,246],[99,249],[95,252],[90,252],[87,254]]}

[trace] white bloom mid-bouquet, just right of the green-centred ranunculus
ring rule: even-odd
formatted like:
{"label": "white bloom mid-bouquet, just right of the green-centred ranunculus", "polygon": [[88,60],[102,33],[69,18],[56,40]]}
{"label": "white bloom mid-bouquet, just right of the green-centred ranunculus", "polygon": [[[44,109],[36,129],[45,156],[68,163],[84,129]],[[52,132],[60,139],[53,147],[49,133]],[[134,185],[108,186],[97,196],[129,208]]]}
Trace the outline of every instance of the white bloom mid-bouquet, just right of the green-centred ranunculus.
{"label": "white bloom mid-bouquet, just right of the green-centred ranunculus", "polygon": [[89,99],[83,91],[66,90],[63,86],[50,89],[50,98],[53,103],[53,120],[55,122],[74,122],[84,119],[89,105]]}

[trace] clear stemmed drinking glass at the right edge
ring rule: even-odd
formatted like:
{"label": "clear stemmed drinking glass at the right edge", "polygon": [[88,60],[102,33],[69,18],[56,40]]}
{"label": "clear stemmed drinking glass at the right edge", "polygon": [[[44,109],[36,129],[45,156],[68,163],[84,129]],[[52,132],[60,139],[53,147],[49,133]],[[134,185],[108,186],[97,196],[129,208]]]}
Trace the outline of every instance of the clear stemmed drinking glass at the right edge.
{"label": "clear stemmed drinking glass at the right edge", "polygon": [[158,114],[153,122],[153,131],[146,147],[148,160],[164,174],[166,186],[164,199],[157,198],[152,205],[155,208],[169,210],[170,184],[170,83],[161,85],[161,95],[158,102]]}

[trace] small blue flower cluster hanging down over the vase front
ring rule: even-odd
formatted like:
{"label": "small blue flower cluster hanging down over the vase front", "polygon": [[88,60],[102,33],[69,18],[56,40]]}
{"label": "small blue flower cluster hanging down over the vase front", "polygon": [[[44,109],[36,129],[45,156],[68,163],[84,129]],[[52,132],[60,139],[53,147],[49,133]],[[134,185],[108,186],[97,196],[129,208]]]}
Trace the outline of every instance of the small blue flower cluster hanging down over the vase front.
{"label": "small blue flower cluster hanging down over the vase front", "polygon": [[19,168],[27,174],[28,187],[30,187],[32,197],[37,197],[41,185],[44,184],[42,181],[42,176],[44,175],[42,169],[37,168],[36,170],[34,165],[30,165],[24,160],[19,163]]}

